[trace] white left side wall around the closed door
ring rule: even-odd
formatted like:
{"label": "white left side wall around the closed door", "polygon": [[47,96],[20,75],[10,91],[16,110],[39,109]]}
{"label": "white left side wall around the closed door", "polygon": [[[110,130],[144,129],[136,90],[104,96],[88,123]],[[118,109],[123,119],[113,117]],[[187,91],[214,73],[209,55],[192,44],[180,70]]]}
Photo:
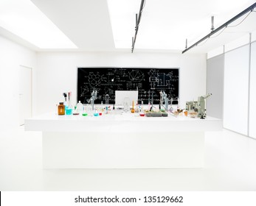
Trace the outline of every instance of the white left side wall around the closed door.
{"label": "white left side wall around the closed door", "polygon": [[[35,51],[26,49],[0,35],[1,129],[17,127],[19,124],[18,83],[20,65],[32,68],[33,77],[35,77]],[[33,93],[33,96],[35,97],[35,93]],[[34,100],[33,102],[35,103]]]}

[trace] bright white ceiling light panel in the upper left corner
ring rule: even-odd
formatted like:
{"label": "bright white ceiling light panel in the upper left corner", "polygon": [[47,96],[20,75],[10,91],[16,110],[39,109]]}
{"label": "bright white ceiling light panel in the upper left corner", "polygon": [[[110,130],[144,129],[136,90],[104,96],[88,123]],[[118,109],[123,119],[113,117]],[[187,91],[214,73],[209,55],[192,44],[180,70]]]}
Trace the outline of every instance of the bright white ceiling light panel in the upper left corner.
{"label": "bright white ceiling light panel in the upper left corner", "polygon": [[0,26],[40,49],[77,49],[30,0],[0,0]]}

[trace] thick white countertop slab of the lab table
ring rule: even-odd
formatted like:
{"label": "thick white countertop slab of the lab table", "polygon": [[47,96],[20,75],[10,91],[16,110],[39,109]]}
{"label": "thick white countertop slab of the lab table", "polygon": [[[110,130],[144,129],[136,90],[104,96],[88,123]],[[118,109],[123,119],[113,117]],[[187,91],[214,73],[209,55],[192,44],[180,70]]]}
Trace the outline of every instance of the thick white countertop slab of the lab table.
{"label": "thick white countertop slab of the lab table", "polygon": [[222,120],[186,116],[141,117],[132,113],[110,113],[103,116],[58,116],[46,113],[25,120],[27,131],[49,132],[201,132],[222,129]]}

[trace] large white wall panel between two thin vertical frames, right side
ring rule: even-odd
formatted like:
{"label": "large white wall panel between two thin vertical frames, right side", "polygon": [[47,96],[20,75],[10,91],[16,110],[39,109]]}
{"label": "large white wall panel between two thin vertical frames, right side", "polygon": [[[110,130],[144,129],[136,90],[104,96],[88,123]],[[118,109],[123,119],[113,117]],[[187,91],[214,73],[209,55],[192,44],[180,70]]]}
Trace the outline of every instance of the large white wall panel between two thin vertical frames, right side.
{"label": "large white wall panel between two thin vertical frames, right side", "polygon": [[224,55],[224,128],[248,135],[249,45]]}

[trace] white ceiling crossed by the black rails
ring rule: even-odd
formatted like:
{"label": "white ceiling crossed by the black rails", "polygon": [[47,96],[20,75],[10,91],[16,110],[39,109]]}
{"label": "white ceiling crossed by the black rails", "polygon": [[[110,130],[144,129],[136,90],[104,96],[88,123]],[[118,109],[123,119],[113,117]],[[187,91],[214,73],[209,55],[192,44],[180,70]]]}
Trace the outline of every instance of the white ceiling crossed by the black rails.
{"label": "white ceiling crossed by the black rails", "polygon": [[[0,0],[1,1],[1,0]],[[145,0],[134,52],[178,51],[196,43],[210,33],[211,16],[215,28],[224,24],[255,1],[246,0]],[[75,51],[129,51],[134,36],[135,14],[140,0],[32,0],[58,28],[78,47]],[[246,17],[246,15],[244,15]],[[237,24],[243,17],[237,21]],[[202,46],[190,52],[207,52],[256,30],[256,13],[242,24],[226,28]],[[232,24],[235,25],[236,23]],[[8,31],[0,28],[0,34]],[[15,35],[10,38],[26,43]],[[55,49],[51,49],[55,50]],[[74,49],[73,49],[74,50]],[[49,50],[48,50],[49,51]]]}

